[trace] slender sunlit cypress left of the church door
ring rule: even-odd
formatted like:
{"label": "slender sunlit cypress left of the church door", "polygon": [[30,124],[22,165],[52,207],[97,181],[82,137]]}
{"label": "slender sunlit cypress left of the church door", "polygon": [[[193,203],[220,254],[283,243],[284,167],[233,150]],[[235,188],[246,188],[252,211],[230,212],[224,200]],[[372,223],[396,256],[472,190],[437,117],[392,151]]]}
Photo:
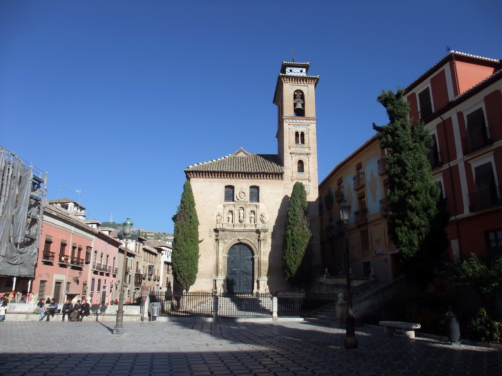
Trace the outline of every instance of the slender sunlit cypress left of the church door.
{"label": "slender sunlit cypress left of the church door", "polygon": [[199,263],[199,220],[192,185],[185,181],[181,203],[174,218],[173,276],[188,291],[195,283]]}

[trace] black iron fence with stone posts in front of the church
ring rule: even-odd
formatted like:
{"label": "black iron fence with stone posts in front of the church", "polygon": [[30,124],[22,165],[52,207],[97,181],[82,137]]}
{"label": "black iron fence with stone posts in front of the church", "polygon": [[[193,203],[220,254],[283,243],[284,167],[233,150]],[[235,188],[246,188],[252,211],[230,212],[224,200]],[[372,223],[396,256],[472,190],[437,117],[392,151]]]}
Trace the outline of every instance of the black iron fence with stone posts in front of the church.
{"label": "black iron fence with stone posts in front of the church", "polygon": [[186,294],[150,295],[151,306],[159,307],[159,316],[265,318],[272,317],[273,298],[277,298],[278,317],[305,317],[308,312],[336,301],[337,294],[274,292],[265,294]]}

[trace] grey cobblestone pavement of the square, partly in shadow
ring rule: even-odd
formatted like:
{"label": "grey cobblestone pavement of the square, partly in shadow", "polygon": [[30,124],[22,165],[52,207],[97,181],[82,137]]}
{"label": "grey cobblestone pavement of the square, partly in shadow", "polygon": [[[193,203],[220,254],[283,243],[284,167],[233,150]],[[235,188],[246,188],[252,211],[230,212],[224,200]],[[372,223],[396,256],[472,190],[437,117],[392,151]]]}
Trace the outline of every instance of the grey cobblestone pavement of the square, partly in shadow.
{"label": "grey cobblestone pavement of the square, partly in shadow", "polygon": [[[7,317],[8,318],[8,317]],[[305,322],[0,323],[0,374],[59,375],[479,375],[502,374],[502,351]]]}

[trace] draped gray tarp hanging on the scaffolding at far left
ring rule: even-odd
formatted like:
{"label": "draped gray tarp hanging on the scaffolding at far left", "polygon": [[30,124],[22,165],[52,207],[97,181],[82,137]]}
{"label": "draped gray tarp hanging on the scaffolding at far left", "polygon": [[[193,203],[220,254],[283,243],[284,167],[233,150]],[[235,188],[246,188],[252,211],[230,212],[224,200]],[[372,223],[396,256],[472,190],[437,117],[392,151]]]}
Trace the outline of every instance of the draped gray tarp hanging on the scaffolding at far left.
{"label": "draped gray tarp hanging on the scaffolding at far left", "polygon": [[33,187],[32,167],[0,147],[0,274],[33,276],[38,239],[23,245]]}

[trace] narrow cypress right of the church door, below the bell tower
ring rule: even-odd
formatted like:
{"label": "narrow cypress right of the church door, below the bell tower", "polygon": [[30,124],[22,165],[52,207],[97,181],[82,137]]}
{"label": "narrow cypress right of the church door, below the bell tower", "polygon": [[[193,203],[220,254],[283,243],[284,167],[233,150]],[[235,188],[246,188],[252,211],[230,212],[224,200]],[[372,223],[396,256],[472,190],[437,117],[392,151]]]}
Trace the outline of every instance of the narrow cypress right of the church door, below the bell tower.
{"label": "narrow cypress right of the church door, below the bell tower", "polygon": [[283,240],[283,273],[294,284],[307,282],[310,276],[309,242],[312,238],[307,215],[304,185],[297,181],[289,201]]}

